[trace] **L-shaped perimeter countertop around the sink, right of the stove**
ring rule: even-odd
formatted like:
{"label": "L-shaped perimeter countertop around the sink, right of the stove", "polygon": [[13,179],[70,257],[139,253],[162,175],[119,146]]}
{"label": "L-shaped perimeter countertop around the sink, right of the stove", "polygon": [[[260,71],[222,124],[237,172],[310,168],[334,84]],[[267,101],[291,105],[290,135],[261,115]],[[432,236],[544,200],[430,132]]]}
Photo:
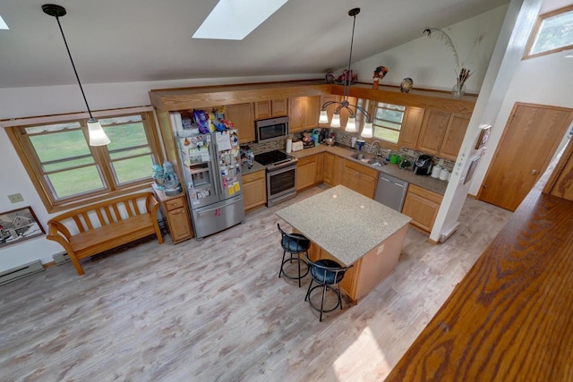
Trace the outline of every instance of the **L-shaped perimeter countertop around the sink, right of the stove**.
{"label": "L-shaped perimeter countertop around the sink, right of the stove", "polygon": [[359,163],[363,166],[368,168],[373,168],[378,170],[382,173],[386,173],[392,175],[398,179],[406,181],[407,183],[415,184],[416,186],[422,187],[423,189],[433,191],[437,194],[443,195],[446,193],[446,189],[448,188],[448,182],[441,181],[440,179],[432,178],[432,176],[422,176],[422,175],[415,175],[412,170],[406,170],[403,168],[399,168],[397,165],[388,164],[382,167],[374,167],[365,165],[363,162],[351,157],[353,154],[357,153],[358,150],[351,149],[346,146],[327,146],[321,145],[316,146],[311,149],[302,149],[300,151],[293,151],[289,155],[302,158],[302,157],[309,157],[315,154],[320,154],[321,152],[330,152],[332,154],[338,155],[338,157],[344,157],[345,159],[349,159]]}

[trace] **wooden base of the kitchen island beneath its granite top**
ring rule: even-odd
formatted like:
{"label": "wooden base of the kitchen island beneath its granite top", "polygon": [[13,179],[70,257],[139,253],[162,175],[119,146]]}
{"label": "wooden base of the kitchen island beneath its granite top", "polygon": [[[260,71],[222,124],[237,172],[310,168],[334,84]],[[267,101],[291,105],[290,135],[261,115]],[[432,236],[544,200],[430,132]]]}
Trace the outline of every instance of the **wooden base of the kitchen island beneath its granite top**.
{"label": "wooden base of the kitchen island beneath its granite top", "polygon": [[[402,245],[406,239],[408,225],[404,225],[396,233],[393,233],[380,245],[367,252],[358,259],[353,266],[346,271],[340,288],[342,292],[353,302],[357,303],[372,291],[378,284],[389,276],[400,257]],[[318,259],[338,259],[312,242],[309,250],[309,257],[312,261]]]}

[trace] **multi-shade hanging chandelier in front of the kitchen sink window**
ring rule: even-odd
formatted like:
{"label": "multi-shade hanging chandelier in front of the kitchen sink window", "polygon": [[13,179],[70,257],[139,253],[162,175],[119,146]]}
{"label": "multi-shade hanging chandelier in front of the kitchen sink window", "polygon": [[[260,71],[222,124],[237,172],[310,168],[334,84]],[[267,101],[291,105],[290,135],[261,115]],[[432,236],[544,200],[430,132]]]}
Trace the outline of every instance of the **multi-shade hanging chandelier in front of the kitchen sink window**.
{"label": "multi-shade hanging chandelier in front of the kitchen sink window", "polygon": [[[348,11],[348,16],[354,18],[352,22],[352,38],[350,39],[350,55],[348,56],[348,69],[343,73],[343,99],[341,102],[337,101],[329,101],[325,102],[322,105],[321,109],[321,116],[319,118],[319,123],[329,123],[329,115],[327,114],[327,107],[331,105],[338,105],[336,110],[334,111],[334,115],[332,115],[332,122],[330,123],[330,127],[340,127],[340,110],[346,110],[348,112],[348,122],[346,123],[346,132],[357,132],[356,126],[356,114],[360,110],[363,115],[366,116],[366,122],[364,123],[362,133],[360,134],[361,137],[364,138],[372,138],[372,117],[368,112],[361,106],[357,105],[350,105],[348,102],[348,97],[350,96],[350,85],[352,83],[352,71],[350,70],[350,64],[352,63],[352,46],[355,40],[355,24],[356,24],[356,14],[360,13],[360,8],[353,8]],[[356,112],[352,110],[351,107],[354,107]]]}

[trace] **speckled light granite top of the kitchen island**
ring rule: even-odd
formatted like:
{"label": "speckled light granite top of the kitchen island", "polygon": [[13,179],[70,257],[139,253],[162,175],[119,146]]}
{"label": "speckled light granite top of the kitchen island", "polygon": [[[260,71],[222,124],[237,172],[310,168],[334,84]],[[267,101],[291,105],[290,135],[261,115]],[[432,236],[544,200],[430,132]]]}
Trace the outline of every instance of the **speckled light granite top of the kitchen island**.
{"label": "speckled light granite top of the kitchen island", "polygon": [[342,185],[279,209],[277,216],[346,266],[412,220]]}

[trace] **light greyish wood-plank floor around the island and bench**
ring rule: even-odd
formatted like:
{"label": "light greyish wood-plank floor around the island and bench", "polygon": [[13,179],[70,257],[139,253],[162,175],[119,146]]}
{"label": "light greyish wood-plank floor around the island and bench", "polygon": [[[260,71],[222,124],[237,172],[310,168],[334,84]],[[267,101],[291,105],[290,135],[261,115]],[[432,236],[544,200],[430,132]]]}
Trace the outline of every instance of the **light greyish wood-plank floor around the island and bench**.
{"label": "light greyish wood-plank floor around the island and bench", "polygon": [[[274,208],[202,242],[143,242],[0,286],[0,380],[382,380],[510,213],[467,199],[440,245],[409,228],[398,267],[325,315],[278,278]],[[281,226],[288,225],[281,222]]]}

